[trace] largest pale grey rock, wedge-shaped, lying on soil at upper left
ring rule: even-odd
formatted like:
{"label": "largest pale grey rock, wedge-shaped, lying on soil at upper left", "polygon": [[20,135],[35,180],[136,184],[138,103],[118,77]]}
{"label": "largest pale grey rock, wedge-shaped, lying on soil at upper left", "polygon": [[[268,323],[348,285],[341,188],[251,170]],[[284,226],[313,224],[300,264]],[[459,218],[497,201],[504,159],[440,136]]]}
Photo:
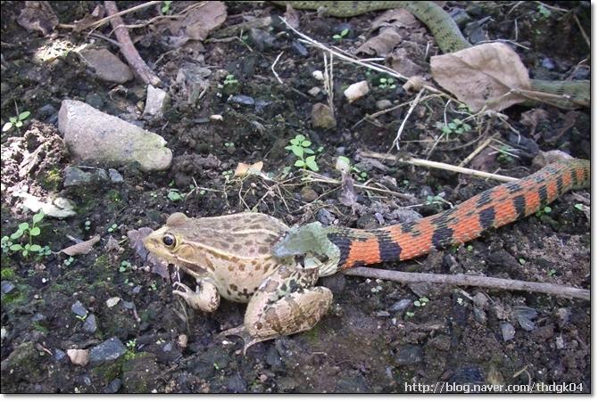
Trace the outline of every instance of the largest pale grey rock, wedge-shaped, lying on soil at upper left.
{"label": "largest pale grey rock, wedge-shaped, lying on soil at upper left", "polygon": [[62,101],[58,129],[77,163],[118,167],[138,162],[143,171],[170,168],[172,152],[162,136],[84,102]]}

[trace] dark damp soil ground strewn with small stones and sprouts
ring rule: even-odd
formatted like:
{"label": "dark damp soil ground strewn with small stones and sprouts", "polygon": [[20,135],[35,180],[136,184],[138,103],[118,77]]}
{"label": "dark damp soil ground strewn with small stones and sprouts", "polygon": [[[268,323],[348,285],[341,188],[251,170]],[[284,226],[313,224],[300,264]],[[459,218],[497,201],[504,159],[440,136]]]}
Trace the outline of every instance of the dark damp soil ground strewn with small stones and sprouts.
{"label": "dark damp soil ground strewn with small stones and sprouts", "polygon": [[[184,2],[173,2],[173,12],[182,7],[177,3]],[[96,2],[49,4],[62,24],[81,20],[96,7]],[[118,3],[120,10],[135,4]],[[482,21],[478,28],[489,38],[515,40],[512,27],[517,20],[517,41],[527,49],[514,49],[531,76],[589,79],[589,70],[576,68],[589,57],[589,48],[570,12],[534,2],[515,8],[512,2],[448,4],[467,12],[464,24]],[[269,3],[227,5],[228,19],[220,28],[246,17],[285,12]],[[575,7],[581,27],[590,32],[589,4],[549,5]],[[40,48],[59,41],[73,48],[95,41],[118,53],[115,45],[68,28],[47,35],[28,31],[16,21],[22,7],[21,2],[2,2],[2,124],[30,111],[22,127],[2,134],[2,236],[31,222],[33,214],[21,208],[21,198],[11,191],[17,186],[39,197],[69,198],[77,205],[77,215],[40,222],[37,243],[48,246],[53,251],[49,255],[25,258],[3,248],[3,393],[408,392],[417,391],[408,385],[439,382],[555,382],[569,385],[568,391],[590,391],[590,303],[537,293],[401,285],[336,274],[320,279],[333,291],[334,303],[311,331],[262,342],[245,356],[237,338],[217,340],[220,331],[242,323],[245,305],[224,300],[212,314],[187,307],[172,294],[169,279],[145,268],[129,242],[129,230],[158,228],[176,211],[195,217],[259,211],[288,225],[319,220],[373,228],[400,221],[402,212],[429,216],[496,183],[364,157],[368,151],[396,153],[392,143],[410,104],[362,119],[382,105],[410,102],[415,94],[403,90],[403,82],[380,81],[384,74],[354,64],[336,61],[334,66],[336,127],[313,128],[313,104],[328,102],[322,90],[308,93],[321,88],[313,72],[324,70],[322,53],[284,34],[279,24],[262,29],[262,37],[240,33],[189,41],[176,49],[152,29],[133,30],[139,53],[172,98],[161,119],[143,119],[145,85],[139,80],[104,82],[72,52],[46,63],[34,57]],[[133,23],[156,12],[150,7],[124,18]],[[370,22],[379,13],[338,19],[300,11],[299,29],[323,44],[351,51],[369,37]],[[107,37],[110,30],[104,26],[96,34]],[[422,55],[418,62],[429,71],[429,56],[439,50],[426,29],[419,32],[426,42],[417,47]],[[426,49],[428,42],[432,46]],[[271,70],[279,53],[283,55],[276,71],[282,85]],[[200,67],[212,71],[209,86],[190,103],[190,90],[177,77],[181,69]],[[346,102],[345,88],[361,80],[370,83],[370,93]],[[174,155],[171,168],[144,173],[129,165],[117,168],[124,177],[121,184],[64,186],[64,169],[73,164],[56,127],[64,99],[81,100],[120,117],[137,116],[141,126],[166,139]],[[546,113],[532,129],[525,116],[535,110]],[[539,151],[590,158],[588,109],[513,106],[502,113],[503,119],[469,119],[469,129],[455,129],[438,140],[444,121],[462,121],[470,113],[455,102],[428,98],[407,120],[400,154],[459,164],[494,134],[502,144],[486,148],[468,167],[520,177],[537,169],[532,160]],[[213,115],[221,120],[211,119]],[[517,144],[514,131],[525,138],[525,146]],[[285,149],[295,135],[311,142],[320,176],[295,167],[295,156]],[[25,155],[40,143],[47,146],[39,162],[21,174]],[[338,184],[338,156],[351,161],[354,184],[367,186],[354,188],[353,207],[345,206],[341,196],[346,193]],[[270,181],[233,176],[239,162],[259,161]],[[586,191],[568,193],[550,209],[469,244],[378,267],[589,289],[590,223],[582,210],[584,198],[589,199]],[[403,209],[412,205],[419,206]],[[101,241],[87,255],[71,259],[55,253],[72,245],[68,236],[87,240],[96,234]],[[111,236],[117,246],[106,249]],[[182,279],[191,285],[189,277]],[[114,297],[120,302],[108,307],[106,301]],[[95,315],[95,330],[72,312],[77,301]],[[116,360],[79,366],[65,355],[69,349],[94,348],[112,338],[127,348]]]}

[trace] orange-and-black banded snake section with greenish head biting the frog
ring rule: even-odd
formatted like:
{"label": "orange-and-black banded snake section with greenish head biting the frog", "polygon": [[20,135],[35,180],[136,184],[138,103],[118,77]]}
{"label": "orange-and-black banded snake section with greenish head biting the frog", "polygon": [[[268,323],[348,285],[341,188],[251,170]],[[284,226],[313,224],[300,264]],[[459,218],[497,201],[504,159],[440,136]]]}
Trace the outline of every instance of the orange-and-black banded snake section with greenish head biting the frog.
{"label": "orange-and-black banded snake section with greenish head biting the frog", "polygon": [[355,266],[402,261],[471,241],[487,230],[536,213],[563,193],[590,185],[590,161],[554,162],[535,174],[500,184],[447,209],[412,222],[378,229],[292,227],[272,248],[279,258],[316,254],[328,258],[320,275]]}

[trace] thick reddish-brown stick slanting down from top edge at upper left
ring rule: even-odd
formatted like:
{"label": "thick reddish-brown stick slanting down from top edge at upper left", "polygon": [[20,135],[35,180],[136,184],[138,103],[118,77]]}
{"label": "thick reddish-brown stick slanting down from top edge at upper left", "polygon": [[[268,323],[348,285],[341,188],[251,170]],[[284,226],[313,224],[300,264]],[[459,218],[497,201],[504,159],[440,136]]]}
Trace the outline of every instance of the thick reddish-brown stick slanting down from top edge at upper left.
{"label": "thick reddish-brown stick slanting down from top edge at upper left", "polygon": [[[150,2],[150,3],[160,3],[160,2]],[[144,5],[144,4],[142,4]],[[123,21],[119,16],[119,9],[116,7],[116,3],[113,1],[105,1],[104,6],[106,8],[106,12],[111,14],[112,19],[112,28],[114,29],[114,33],[116,38],[119,40],[120,43],[120,53],[125,56],[127,62],[137,75],[145,82],[145,84],[151,84],[152,86],[159,86],[161,84],[160,78],[158,78],[154,71],[151,70],[145,61],[141,58],[135,45],[133,45],[133,41],[131,37],[129,37],[129,31],[122,27]],[[135,8],[135,7],[133,7]],[[130,10],[129,10],[130,11]],[[104,19],[105,20],[105,19]]]}

